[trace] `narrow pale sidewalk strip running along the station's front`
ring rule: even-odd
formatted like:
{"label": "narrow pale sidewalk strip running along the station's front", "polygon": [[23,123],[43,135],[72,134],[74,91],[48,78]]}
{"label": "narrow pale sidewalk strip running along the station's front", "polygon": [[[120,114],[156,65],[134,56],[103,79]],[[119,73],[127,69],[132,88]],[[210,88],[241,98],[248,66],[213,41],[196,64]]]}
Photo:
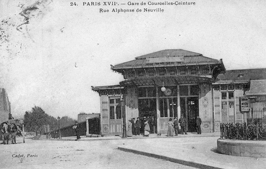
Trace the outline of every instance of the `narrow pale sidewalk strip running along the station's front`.
{"label": "narrow pale sidewalk strip running along the station's front", "polygon": [[[197,135],[197,133],[188,133],[188,135],[181,135],[178,136],[172,136],[167,137],[167,133],[162,133],[161,136],[158,136],[157,134],[150,134],[149,137],[144,137],[143,135],[133,135],[132,137],[126,137],[122,138],[122,135],[119,136],[103,136],[103,137],[86,137],[86,136],[80,136],[81,139],[78,141],[91,141],[91,140],[117,140],[117,139],[151,139],[151,138],[183,138],[183,137],[220,137],[220,132],[213,132],[213,133],[202,133],[201,135]],[[75,141],[77,139],[76,136],[73,137],[62,137],[62,139],[58,138],[51,138],[48,140],[69,140],[69,141]]]}

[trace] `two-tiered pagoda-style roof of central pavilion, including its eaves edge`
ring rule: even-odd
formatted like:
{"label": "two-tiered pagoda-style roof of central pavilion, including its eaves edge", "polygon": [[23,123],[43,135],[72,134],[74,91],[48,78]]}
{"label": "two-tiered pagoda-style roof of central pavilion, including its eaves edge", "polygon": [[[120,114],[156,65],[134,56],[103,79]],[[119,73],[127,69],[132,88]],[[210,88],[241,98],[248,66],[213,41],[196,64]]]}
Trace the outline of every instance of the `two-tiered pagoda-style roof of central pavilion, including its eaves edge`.
{"label": "two-tiered pagoda-style roof of central pavilion, including its eaves edge", "polygon": [[[163,66],[188,66],[202,64],[222,64],[222,59],[212,59],[204,57],[200,53],[195,53],[183,49],[167,49],[153,52],[150,54],[136,57],[125,63],[115,66],[111,65],[112,70],[121,68],[144,68],[144,67],[163,67]],[[224,67],[224,66],[223,66]]]}

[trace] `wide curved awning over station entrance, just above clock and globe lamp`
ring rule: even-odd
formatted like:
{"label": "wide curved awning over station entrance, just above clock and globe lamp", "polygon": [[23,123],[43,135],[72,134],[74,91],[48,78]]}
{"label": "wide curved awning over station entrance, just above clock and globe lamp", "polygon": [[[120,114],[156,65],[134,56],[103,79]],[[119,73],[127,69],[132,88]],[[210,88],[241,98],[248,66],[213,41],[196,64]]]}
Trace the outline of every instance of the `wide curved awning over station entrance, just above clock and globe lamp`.
{"label": "wide curved awning over station entrance, just above clock and globe lamp", "polygon": [[173,85],[173,84],[189,84],[189,83],[213,83],[214,79],[202,76],[174,76],[174,77],[143,77],[136,79],[128,79],[120,82],[120,85]]}

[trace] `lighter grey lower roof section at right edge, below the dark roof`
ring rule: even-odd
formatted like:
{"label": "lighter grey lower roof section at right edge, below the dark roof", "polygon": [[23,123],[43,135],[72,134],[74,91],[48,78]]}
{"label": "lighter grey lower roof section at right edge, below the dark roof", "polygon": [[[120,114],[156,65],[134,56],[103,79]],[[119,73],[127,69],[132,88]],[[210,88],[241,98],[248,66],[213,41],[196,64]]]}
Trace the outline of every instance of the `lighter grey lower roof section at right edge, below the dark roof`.
{"label": "lighter grey lower roof section at right edge, below the dark roof", "polygon": [[246,92],[246,96],[266,95],[266,80],[251,80],[250,90]]}

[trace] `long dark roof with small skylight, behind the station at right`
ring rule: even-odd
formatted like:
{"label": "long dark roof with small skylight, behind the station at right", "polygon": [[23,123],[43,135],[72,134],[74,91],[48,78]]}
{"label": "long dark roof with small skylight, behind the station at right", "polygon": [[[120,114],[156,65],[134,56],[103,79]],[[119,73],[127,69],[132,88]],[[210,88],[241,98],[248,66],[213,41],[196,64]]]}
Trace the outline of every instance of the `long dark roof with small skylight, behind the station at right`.
{"label": "long dark roof with small skylight, behind the station at right", "polygon": [[266,79],[266,68],[227,70],[225,74],[219,74],[220,80],[263,80]]}

